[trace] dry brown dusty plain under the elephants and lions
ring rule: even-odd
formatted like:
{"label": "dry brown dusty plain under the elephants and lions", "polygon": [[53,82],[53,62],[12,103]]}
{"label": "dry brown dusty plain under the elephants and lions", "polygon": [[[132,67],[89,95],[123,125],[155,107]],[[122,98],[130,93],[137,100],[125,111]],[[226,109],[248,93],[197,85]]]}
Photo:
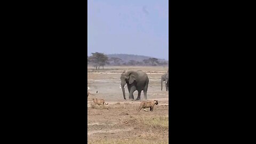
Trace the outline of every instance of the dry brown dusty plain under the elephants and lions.
{"label": "dry brown dusty plain under the elephants and lions", "polygon": [[[168,91],[161,91],[161,76],[167,67],[105,67],[87,68],[90,92],[87,99],[87,143],[168,143]],[[122,70],[146,71],[149,76],[147,97],[158,100],[154,111],[137,111],[140,101],[124,100],[119,89]],[[98,93],[96,93],[98,91]],[[129,98],[127,86],[126,98]],[[138,92],[134,92],[134,99]],[[105,99],[107,106],[95,106],[93,98]],[[143,92],[141,93],[141,99]],[[148,109],[149,110],[149,109]]]}

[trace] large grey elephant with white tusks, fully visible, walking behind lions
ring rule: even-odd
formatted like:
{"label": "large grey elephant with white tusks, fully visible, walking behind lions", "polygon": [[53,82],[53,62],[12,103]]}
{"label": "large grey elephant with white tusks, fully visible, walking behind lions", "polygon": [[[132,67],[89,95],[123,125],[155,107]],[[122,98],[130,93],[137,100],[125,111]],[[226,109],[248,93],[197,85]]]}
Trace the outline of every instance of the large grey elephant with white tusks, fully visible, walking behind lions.
{"label": "large grey elephant with white tusks, fully visible, walking behind lions", "polygon": [[141,91],[143,91],[144,99],[147,100],[149,78],[145,72],[143,72],[142,70],[137,70],[137,71],[130,70],[125,72],[124,70],[121,74],[120,79],[121,79],[121,88],[122,88],[123,96],[125,100],[126,100],[125,90],[124,90],[125,84],[127,84],[130,100],[134,100],[133,92],[135,90],[138,91],[138,97],[136,100],[140,100]]}

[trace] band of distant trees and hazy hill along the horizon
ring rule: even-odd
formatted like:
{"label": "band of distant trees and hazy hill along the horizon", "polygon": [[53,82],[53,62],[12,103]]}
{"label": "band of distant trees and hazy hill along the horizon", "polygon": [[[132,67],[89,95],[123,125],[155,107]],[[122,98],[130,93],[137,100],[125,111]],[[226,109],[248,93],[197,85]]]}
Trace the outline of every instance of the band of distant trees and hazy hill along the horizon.
{"label": "band of distant trees and hazy hill along the horizon", "polygon": [[[117,57],[115,57],[117,56]],[[124,57],[125,60],[122,58]],[[129,60],[130,57],[130,60]],[[145,59],[141,59],[145,58]],[[168,61],[150,58],[141,55],[132,54],[103,54],[99,52],[92,53],[90,57],[87,56],[87,64],[93,66],[96,69],[104,66],[167,66]]]}

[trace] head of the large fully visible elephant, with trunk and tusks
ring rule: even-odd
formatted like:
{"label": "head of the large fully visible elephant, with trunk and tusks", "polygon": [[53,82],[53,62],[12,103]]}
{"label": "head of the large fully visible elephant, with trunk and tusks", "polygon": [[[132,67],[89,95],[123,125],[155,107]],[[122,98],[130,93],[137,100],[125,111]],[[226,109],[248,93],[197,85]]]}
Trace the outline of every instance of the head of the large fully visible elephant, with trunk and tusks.
{"label": "head of the large fully visible elephant, with trunk and tusks", "polygon": [[125,70],[122,72],[121,74],[121,88],[122,88],[122,91],[123,91],[123,96],[124,96],[124,99],[125,98],[125,90],[124,90],[124,87],[125,87],[125,84],[129,84],[131,85],[132,83],[134,83],[136,81],[138,77],[138,74],[136,71],[127,71],[125,72]]}

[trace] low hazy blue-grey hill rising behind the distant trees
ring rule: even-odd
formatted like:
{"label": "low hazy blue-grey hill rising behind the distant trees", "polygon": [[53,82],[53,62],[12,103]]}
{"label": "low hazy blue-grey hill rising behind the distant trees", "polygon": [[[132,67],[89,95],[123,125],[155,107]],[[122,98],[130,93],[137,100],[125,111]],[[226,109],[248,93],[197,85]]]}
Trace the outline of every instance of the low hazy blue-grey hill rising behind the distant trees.
{"label": "low hazy blue-grey hill rising behind the distant trees", "polygon": [[[108,58],[119,58],[122,59],[124,62],[128,62],[130,60],[135,60],[135,61],[142,61],[144,59],[149,59],[153,57],[147,57],[144,55],[134,55],[134,54],[106,54]],[[158,59],[158,61],[167,61],[164,59]]]}

